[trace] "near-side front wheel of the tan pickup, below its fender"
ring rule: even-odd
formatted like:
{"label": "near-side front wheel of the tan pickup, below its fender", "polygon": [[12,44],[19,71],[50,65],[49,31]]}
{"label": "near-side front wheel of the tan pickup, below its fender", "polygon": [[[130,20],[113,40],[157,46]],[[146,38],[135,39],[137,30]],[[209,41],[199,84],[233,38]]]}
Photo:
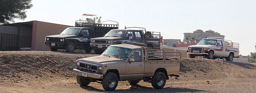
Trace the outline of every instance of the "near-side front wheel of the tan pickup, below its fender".
{"label": "near-side front wheel of the tan pickup, below its fender", "polygon": [[115,73],[109,72],[102,79],[102,87],[106,91],[113,91],[118,85],[118,77]]}

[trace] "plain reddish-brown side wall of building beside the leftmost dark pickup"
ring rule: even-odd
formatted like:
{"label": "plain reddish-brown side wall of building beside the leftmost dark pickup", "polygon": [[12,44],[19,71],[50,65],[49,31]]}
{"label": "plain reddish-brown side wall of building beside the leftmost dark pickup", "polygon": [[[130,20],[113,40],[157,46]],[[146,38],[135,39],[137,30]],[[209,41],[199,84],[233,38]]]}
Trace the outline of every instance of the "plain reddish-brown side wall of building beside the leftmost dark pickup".
{"label": "plain reddish-brown side wall of building beside the leftmost dark pickup", "polygon": [[31,43],[32,50],[49,50],[49,47],[45,46],[44,43],[45,36],[60,34],[67,27],[71,26],[34,21]]}

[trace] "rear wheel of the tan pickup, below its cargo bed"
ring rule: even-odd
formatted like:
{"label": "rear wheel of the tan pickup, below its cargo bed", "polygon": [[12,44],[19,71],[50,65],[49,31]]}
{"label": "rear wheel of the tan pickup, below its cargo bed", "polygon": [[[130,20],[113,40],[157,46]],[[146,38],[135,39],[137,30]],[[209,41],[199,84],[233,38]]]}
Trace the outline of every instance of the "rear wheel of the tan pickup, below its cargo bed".
{"label": "rear wheel of the tan pickup, below its cargo bed", "polygon": [[157,71],[155,72],[154,76],[152,77],[151,85],[155,89],[162,89],[166,83],[166,76],[165,73]]}

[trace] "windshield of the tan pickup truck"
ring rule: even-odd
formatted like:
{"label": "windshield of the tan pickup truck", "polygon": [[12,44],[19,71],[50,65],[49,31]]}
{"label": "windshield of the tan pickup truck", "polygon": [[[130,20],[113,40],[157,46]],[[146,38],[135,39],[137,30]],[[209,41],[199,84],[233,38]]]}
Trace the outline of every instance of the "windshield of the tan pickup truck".
{"label": "windshield of the tan pickup truck", "polygon": [[107,55],[107,56],[116,57],[120,59],[126,59],[130,51],[131,49],[110,46],[104,53],[102,53],[102,55]]}

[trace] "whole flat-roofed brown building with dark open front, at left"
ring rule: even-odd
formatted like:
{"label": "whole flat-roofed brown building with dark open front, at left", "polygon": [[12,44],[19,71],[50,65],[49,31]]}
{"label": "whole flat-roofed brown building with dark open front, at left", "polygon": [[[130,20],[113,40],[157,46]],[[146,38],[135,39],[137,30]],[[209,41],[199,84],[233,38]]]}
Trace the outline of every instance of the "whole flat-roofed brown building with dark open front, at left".
{"label": "whole flat-roofed brown building with dark open front, at left", "polygon": [[60,34],[67,27],[71,26],[41,21],[0,25],[0,51],[19,50],[23,47],[49,50],[44,43],[45,36]]}

